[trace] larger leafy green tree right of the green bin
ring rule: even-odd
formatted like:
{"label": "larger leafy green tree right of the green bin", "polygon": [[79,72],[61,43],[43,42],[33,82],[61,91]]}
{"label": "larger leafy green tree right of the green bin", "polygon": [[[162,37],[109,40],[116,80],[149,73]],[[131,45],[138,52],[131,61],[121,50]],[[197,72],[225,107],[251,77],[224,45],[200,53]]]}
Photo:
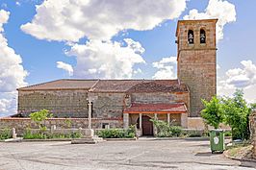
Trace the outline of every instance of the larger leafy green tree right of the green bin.
{"label": "larger leafy green tree right of the green bin", "polygon": [[251,109],[243,99],[243,90],[237,89],[233,98],[222,98],[224,122],[231,127],[233,139],[249,138],[248,116]]}

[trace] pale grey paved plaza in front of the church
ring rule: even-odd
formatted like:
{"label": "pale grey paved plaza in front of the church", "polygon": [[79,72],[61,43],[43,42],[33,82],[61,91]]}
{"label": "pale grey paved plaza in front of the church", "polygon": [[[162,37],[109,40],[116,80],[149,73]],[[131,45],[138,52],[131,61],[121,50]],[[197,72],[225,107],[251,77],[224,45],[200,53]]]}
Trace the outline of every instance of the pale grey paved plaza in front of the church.
{"label": "pale grey paved plaza in front of the church", "polygon": [[209,141],[186,139],[70,142],[0,142],[0,170],[255,169],[256,164],[211,154]]}

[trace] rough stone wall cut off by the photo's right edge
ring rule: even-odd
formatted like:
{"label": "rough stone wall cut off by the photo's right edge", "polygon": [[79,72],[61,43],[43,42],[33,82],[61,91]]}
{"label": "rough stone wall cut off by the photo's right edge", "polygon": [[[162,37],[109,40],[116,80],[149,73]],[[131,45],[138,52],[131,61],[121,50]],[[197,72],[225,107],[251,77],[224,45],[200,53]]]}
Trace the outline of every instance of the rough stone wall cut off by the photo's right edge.
{"label": "rough stone wall cut off by the photo's right edge", "polygon": [[256,158],[256,109],[254,109],[252,114],[249,116],[249,126],[250,140],[253,145],[252,156],[253,158]]}

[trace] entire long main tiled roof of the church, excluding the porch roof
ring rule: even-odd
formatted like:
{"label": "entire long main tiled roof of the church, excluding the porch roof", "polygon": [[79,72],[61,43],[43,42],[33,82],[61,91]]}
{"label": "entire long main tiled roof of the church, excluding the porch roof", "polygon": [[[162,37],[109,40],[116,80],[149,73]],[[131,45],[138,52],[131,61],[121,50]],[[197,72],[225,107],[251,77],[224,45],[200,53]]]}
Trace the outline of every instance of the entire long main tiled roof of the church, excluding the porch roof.
{"label": "entire long main tiled roof of the church, excluding the porch roof", "polygon": [[72,80],[64,79],[38,85],[29,85],[17,90],[90,89],[90,92],[173,92],[189,91],[178,80]]}

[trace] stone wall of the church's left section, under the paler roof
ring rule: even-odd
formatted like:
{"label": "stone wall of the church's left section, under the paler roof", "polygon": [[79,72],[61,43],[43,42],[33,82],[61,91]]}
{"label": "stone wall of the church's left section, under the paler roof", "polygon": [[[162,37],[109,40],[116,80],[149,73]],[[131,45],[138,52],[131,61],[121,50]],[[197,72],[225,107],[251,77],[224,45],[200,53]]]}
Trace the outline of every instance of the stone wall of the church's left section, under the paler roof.
{"label": "stone wall of the church's left section, under the paler roof", "polygon": [[18,113],[48,109],[54,117],[88,117],[87,90],[19,90]]}

